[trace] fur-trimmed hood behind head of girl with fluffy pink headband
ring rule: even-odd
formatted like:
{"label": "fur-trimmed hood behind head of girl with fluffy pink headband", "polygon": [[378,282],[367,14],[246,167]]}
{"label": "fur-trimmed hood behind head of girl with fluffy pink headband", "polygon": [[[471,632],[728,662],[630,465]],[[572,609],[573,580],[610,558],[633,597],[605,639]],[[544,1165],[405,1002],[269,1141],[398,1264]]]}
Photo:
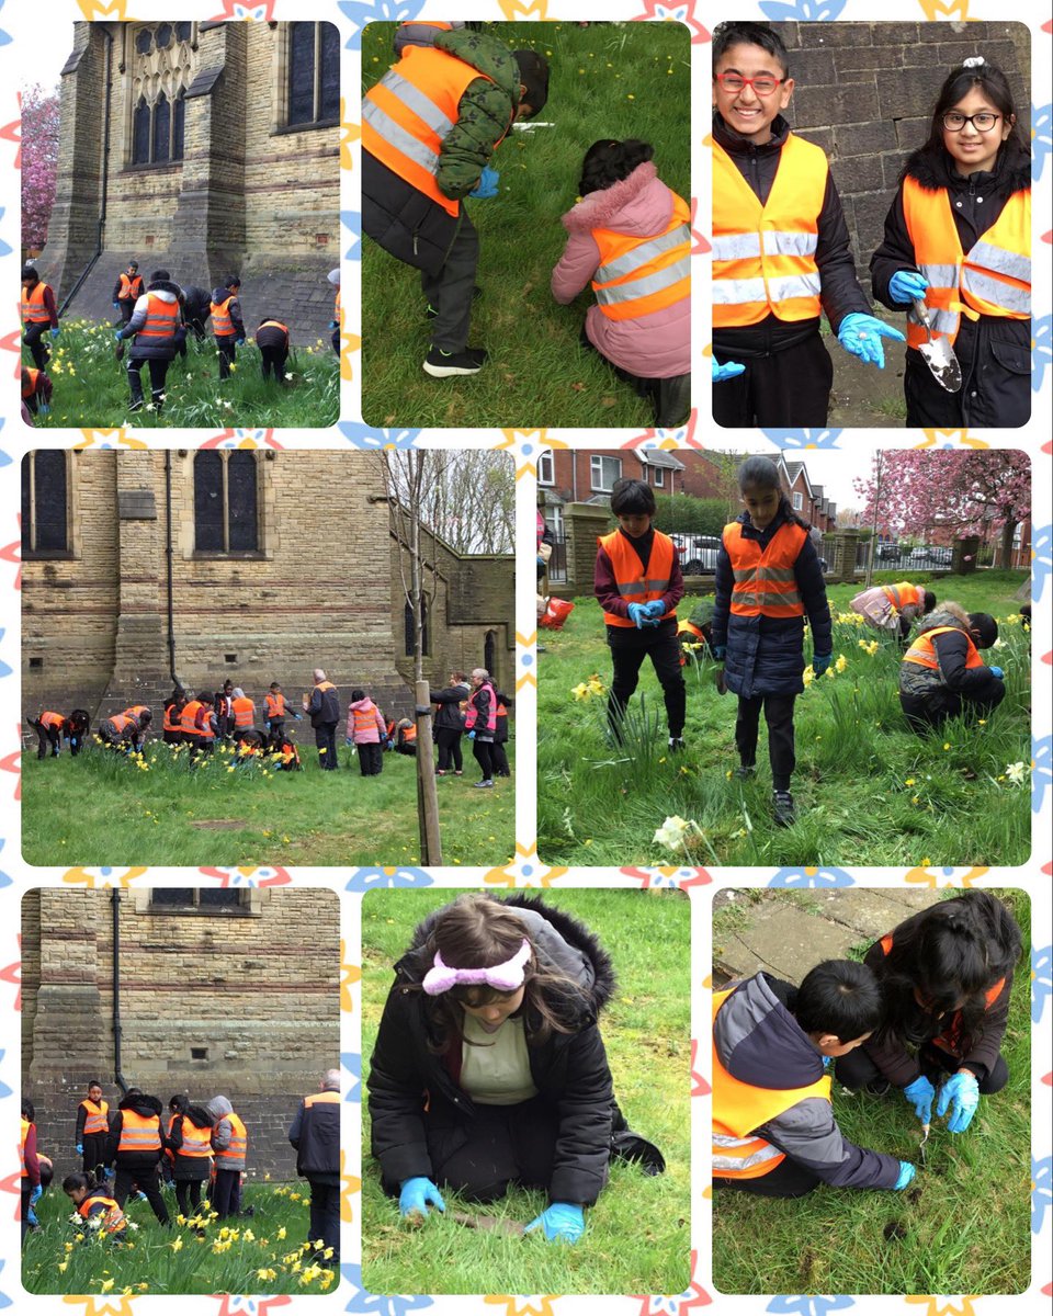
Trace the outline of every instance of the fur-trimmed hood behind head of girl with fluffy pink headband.
{"label": "fur-trimmed hood behind head of girl with fluffy pink headband", "polygon": [[[538,896],[516,894],[492,899],[515,908],[538,958],[573,978],[588,995],[594,1011],[599,1013],[613,996],[617,980],[611,957],[598,937],[573,915],[545,904]],[[409,949],[395,965],[396,973],[404,974],[411,982],[419,983],[432,967],[424,946],[441,912],[436,909],[417,925]]]}

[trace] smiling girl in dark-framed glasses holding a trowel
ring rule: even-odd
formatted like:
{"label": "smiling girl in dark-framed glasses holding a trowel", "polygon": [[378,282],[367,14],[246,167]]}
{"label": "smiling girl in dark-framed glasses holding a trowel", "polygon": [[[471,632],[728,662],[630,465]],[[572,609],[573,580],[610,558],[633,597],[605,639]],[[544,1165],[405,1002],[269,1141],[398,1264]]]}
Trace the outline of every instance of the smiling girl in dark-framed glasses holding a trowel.
{"label": "smiling girl in dark-framed glasses holding a trowel", "polygon": [[[1031,147],[1000,68],[982,55],[940,88],[870,261],[874,296],[907,309],[907,425],[1025,425],[1031,418]],[[962,367],[948,392],[917,350],[927,303]],[[965,309],[965,313],[962,313]]]}

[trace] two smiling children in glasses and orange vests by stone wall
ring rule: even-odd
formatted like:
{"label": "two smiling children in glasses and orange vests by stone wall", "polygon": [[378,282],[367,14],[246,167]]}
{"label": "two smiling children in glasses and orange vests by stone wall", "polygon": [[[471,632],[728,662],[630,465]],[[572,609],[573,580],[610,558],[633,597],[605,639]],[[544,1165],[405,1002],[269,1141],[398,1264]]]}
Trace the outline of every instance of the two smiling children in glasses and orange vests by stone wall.
{"label": "two smiling children in glasses and orange vests by stone wall", "polygon": [[[713,418],[823,428],[840,345],[885,365],[821,147],[782,112],[790,58],[763,24],[713,32]],[[1031,416],[1031,151],[1002,70],[982,55],[946,76],[925,143],[907,159],[870,261],[874,296],[907,312],[907,425],[1019,426]],[[924,305],[923,305],[924,304]],[[933,378],[932,333],[962,384]]]}

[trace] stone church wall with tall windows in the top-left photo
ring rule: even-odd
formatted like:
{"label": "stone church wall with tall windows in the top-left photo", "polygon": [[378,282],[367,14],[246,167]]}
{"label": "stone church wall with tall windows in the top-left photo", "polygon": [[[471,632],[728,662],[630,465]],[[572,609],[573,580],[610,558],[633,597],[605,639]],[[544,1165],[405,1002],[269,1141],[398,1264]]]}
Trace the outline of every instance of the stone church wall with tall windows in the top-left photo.
{"label": "stone church wall with tall windows in the top-left photo", "polygon": [[[242,279],[246,326],[324,337],[340,265],[340,34],[330,22],[76,22],[58,188],[37,262],[109,317],[128,262]],[[253,328],[258,324],[251,320]]]}

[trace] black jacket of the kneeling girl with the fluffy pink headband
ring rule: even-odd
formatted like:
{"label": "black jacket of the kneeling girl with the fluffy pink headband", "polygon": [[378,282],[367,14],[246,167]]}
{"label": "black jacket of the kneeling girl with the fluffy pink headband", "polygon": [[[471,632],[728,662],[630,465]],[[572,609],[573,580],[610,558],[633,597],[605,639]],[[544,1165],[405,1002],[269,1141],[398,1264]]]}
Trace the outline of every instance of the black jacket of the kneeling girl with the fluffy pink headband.
{"label": "black jacket of the kneeling girl with the fluffy pink headband", "polygon": [[[582,988],[580,996],[562,1007],[575,1030],[553,1032],[540,1046],[529,1048],[529,1058],[538,1096],[555,1109],[559,1120],[549,1199],[588,1205],[605,1180],[617,1113],[596,1021],[615,990],[611,959],[592,933],[562,909],[526,895],[511,895],[501,903],[521,913],[538,957],[554,963]],[[384,1005],[366,1083],[372,1154],[391,1183],[416,1175],[434,1177],[424,1133],[426,1092],[445,1098],[466,1120],[475,1117],[471,1098],[453,1080],[448,1063],[459,1061],[461,1038],[450,1038],[444,1055],[428,1049],[425,998],[413,990],[430,969],[425,942],[438,912],[416,929],[409,950],[395,965],[395,983]],[[528,1037],[530,1023],[528,1015]]]}

